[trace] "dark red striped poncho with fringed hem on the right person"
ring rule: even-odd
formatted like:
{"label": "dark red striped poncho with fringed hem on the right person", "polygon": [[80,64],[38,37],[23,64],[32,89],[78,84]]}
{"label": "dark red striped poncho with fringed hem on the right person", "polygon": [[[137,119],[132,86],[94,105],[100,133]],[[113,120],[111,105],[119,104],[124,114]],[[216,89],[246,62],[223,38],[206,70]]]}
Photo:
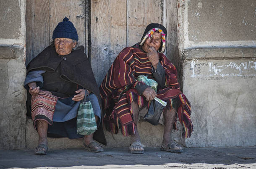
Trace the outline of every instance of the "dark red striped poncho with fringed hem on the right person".
{"label": "dark red striped poncho with fringed hem on the right person", "polygon": [[[159,62],[165,69],[165,88],[158,87],[157,98],[167,102],[168,110],[171,108],[177,110],[178,115],[176,114],[173,128],[176,129],[178,117],[183,125],[182,136],[190,137],[193,131],[190,103],[179,90],[175,66],[164,54],[158,55]],[[135,133],[131,102],[135,101],[140,108],[149,106],[146,98],[143,95],[140,96],[135,89],[136,85],[144,84],[136,80],[139,75],[154,79],[151,62],[138,45],[124,48],[115,58],[99,89],[104,105],[103,121],[108,131],[117,134],[120,129],[126,136]]]}

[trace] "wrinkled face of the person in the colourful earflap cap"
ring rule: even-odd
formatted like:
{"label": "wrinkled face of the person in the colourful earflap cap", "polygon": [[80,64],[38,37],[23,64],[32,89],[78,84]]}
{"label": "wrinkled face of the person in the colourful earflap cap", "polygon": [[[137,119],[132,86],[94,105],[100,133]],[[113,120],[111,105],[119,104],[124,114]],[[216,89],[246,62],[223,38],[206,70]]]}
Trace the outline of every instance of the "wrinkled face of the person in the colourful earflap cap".
{"label": "wrinkled face of the person in the colourful earflap cap", "polygon": [[158,32],[155,32],[152,34],[151,37],[148,37],[146,38],[143,46],[142,46],[142,49],[146,52],[146,53],[149,53],[148,49],[150,47],[154,47],[155,50],[159,50],[161,44],[162,44],[162,39],[161,39],[161,34],[158,33]]}

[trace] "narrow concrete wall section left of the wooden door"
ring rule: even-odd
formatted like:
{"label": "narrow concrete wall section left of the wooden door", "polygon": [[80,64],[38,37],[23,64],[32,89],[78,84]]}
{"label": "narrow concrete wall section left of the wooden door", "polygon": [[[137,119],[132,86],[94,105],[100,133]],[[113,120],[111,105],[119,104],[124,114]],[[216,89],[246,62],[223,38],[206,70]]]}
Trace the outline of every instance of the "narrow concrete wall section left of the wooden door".
{"label": "narrow concrete wall section left of the wooden door", "polygon": [[0,149],[25,148],[25,0],[0,5]]}

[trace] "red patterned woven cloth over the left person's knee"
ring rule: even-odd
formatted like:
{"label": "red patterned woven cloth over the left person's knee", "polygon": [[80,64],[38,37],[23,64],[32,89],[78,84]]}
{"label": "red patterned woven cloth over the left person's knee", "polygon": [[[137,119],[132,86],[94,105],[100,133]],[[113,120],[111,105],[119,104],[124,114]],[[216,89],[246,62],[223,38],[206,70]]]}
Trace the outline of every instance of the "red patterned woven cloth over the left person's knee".
{"label": "red patterned woven cloth over the left person's knee", "polygon": [[31,117],[34,128],[36,129],[36,121],[44,120],[52,125],[53,113],[58,97],[53,96],[50,91],[39,91],[39,93],[31,98]]}

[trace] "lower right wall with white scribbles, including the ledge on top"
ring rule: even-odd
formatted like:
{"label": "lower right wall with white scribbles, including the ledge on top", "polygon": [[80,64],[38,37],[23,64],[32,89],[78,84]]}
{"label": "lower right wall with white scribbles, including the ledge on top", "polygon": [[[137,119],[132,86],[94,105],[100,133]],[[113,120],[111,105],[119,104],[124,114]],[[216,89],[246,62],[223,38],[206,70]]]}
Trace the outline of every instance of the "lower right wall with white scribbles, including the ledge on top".
{"label": "lower right wall with white scribbles, including the ledge on top", "polygon": [[183,89],[194,123],[186,145],[256,145],[256,49],[193,49],[185,55]]}

